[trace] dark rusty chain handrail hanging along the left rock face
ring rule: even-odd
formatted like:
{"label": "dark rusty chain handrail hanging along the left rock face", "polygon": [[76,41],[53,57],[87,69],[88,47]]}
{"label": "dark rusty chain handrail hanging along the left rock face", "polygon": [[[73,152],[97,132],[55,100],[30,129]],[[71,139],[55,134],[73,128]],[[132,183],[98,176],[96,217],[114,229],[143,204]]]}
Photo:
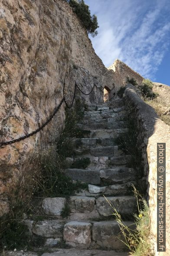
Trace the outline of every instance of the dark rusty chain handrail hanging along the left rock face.
{"label": "dark rusty chain handrail hanging along the left rock face", "polygon": [[89,94],[92,93],[92,91],[94,90],[95,87],[98,89],[98,87],[94,84],[92,90],[91,90],[89,93],[86,94],[86,93],[84,93],[84,92],[78,87],[78,85],[77,85],[76,82],[75,82],[74,95],[73,95],[73,99],[72,99],[71,105],[69,105],[69,104],[66,102],[65,95],[64,95],[63,98],[62,98],[62,100],[61,100],[61,102],[60,102],[60,104],[58,105],[58,107],[56,107],[56,108],[54,109],[53,114],[49,116],[49,119],[48,119],[43,125],[39,126],[39,128],[36,129],[35,131],[33,131],[33,132],[31,132],[31,133],[29,133],[29,134],[27,134],[27,135],[25,135],[25,136],[22,136],[22,137],[20,137],[20,138],[17,138],[17,139],[11,140],[11,141],[0,142],[0,148],[3,147],[3,146],[11,145],[11,144],[13,144],[13,143],[15,143],[15,142],[23,141],[23,140],[25,140],[26,138],[29,138],[29,137],[35,135],[37,132],[41,131],[46,125],[48,125],[48,123],[52,120],[52,118],[54,118],[54,116],[57,114],[57,112],[59,111],[60,107],[62,106],[62,103],[63,103],[63,102],[65,102],[65,105],[66,105],[67,108],[69,108],[69,109],[72,108],[72,105],[73,105],[74,100],[75,100],[76,88],[78,88],[78,90],[81,91],[82,94],[84,94],[84,95],[89,95]]}

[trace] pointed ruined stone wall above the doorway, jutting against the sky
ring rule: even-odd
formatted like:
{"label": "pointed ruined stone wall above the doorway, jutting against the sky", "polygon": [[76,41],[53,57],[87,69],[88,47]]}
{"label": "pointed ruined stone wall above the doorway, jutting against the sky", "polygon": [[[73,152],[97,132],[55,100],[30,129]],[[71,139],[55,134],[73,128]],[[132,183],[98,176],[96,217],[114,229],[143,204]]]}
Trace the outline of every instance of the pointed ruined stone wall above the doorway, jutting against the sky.
{"label": "pointed ruined stone wall above the doorway, jutting against the sky", "polygon": [[144,79],[144,77],[119,60],[115,60],[114,64],[108,67],[108,70],[112,70],[114,72],[113,76],[116,91],[118,91],[121,86],[126,85],[127,77],[134,78],[138,84],[142,84]]}

